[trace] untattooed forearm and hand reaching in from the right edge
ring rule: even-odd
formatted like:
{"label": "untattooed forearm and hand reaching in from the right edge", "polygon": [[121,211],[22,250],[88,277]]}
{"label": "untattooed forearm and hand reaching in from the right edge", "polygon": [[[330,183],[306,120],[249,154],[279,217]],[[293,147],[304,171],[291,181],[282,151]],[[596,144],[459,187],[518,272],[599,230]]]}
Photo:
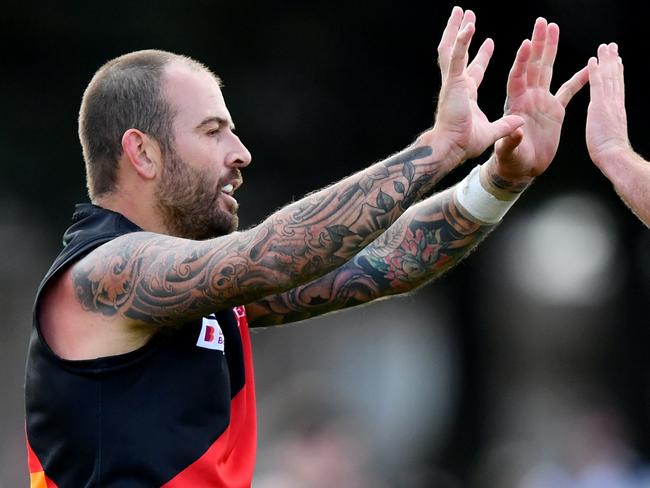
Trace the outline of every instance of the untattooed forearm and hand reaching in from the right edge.
{"label": "untattooed forearm and hand reaching in from the right edge", "polygon": [[650,163],[630,145],[623,61],[615,43],[601,44],[598,58],[589,60],[589,85],[589,156],[632,212],[650,227]]}

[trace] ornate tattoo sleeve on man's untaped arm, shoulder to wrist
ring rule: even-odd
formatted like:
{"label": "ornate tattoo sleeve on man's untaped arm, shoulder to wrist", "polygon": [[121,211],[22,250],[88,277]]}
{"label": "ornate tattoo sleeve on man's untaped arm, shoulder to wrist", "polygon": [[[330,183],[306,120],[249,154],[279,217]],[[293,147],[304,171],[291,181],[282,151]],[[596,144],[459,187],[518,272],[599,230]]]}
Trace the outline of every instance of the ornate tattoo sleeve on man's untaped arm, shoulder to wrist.
{"label": "ornate tattoo sleeve on man's untaped arm, shoulder to wrist", "polygon": [[[122,236],[73,267],[77,298],[88,311],[171,325],[291,289],[343,265],[422,198],[451,169],[432,154],[407,149],[244,232]],[[368,263],[382,259],[375,247]]]}

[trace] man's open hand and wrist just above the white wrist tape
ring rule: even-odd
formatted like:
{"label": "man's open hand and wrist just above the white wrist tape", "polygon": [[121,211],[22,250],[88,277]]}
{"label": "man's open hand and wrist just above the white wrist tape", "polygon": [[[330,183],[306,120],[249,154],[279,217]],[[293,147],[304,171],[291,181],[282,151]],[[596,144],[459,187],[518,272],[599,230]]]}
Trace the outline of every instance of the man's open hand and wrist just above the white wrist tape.
{"label": "man's open hand and wrist just above the white wrist tape", "polygon": [[507,189],[521,190],[543,173],[555,157],[565,108],[587,83],[584,67],[553,95],[550,92],[560,28],[538,18],[532,39],[523,41],[510,70],[505,112],[524,125],[495,145],[489,173]]}

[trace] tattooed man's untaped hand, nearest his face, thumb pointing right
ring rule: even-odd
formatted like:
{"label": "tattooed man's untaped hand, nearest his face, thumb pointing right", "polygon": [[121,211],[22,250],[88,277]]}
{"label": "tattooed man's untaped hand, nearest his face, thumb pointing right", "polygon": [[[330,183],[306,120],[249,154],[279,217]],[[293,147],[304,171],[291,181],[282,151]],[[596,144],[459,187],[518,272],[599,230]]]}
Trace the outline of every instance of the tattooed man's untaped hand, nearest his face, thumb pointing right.
{"label": "tattooed man's untaped hand, nearest his face, thumb pointing right", "polygon": [[474,12],[454,7],[438,45],[442,86],[432,132],[451,144],[459,162],[480,155],[524,123],[515,114],[490,122],[478,106],[477,91],[494,52],[494,42],[486,39],[468,64],[475,22]]}

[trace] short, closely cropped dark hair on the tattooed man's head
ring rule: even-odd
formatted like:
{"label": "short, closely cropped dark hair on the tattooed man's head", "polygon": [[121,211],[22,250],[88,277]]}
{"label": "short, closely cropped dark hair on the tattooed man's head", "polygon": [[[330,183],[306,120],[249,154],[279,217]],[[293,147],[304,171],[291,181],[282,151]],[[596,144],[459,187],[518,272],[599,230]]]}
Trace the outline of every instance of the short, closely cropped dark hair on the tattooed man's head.
{"label": "short, closely cropped dark hair on the tattooed man's head", "polygon": [[165,67],[172,61],[212,74],[194,59],[149,49],[108,61],[88,84],[79,110],[79,140],[91,200],[115,189],[122,136],[128,129],[154,137],[164,154],[172,149],[174,113],[163,94]]}

